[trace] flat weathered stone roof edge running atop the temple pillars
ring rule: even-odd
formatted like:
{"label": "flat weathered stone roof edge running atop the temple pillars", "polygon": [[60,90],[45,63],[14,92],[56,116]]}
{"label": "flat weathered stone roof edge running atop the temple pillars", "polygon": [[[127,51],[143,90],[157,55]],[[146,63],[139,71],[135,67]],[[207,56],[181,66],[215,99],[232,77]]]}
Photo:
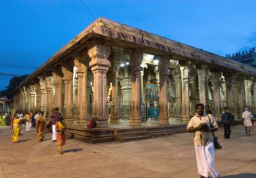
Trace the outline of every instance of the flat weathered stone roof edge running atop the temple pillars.
{"label": "flat weathered stone roof edge running atop the temple pillars", "polygon": [[255,68],[247,64],[99,17],[75,36],[73,40],[58,50],[49,60],[46,60],[34,73],[22,81],[21,85],[15,90],[47,71],[49,67],[71,54],[71,52],[82,46],[92,37],[100,37],[108,40],[110,44],[121,45],[126,48],[143,48],[147,52],[152,51],[152,54],[170,54],[174,60],[191,60],[195,64],[214,64],[213,68],[223,69],[223,71],[256,76]]}

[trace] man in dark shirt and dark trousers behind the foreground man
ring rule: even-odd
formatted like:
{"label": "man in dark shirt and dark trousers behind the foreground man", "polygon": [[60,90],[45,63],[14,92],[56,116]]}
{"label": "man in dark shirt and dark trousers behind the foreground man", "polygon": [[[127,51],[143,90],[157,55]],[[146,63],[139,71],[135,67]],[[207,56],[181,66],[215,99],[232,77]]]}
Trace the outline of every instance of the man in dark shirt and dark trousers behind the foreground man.
{"label": "man in dark shirt and dark trousers behind the foreground man", "polygon": [[230,138],[231,130],[230,123],[232,121],[232,115],[228,112],[228,108],[224,107],[224,112],[220,116],[222,118],[222,126],[224,127],[224,138]]}

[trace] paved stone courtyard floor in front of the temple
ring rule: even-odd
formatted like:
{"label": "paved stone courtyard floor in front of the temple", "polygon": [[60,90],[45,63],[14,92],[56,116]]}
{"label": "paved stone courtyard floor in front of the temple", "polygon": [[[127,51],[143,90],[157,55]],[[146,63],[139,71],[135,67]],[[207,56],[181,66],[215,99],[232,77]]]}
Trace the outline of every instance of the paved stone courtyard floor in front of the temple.
{"label": "paved stone courtyard floor in front of the temple", "polygon": [[[254,130],[253,130],[254,132]],[[232,126],[216,151],[216,170],[222,177],[256,177],[256,140],[242,125]],[[37,142],[36,131],[10,142],[11,130],[0,128],[0,177],[152,177],[193,178],[197,175],[193,134],[173,134],[150,140],[88,144],[67,139],[65,153],[58,154],[51,133]]]}

